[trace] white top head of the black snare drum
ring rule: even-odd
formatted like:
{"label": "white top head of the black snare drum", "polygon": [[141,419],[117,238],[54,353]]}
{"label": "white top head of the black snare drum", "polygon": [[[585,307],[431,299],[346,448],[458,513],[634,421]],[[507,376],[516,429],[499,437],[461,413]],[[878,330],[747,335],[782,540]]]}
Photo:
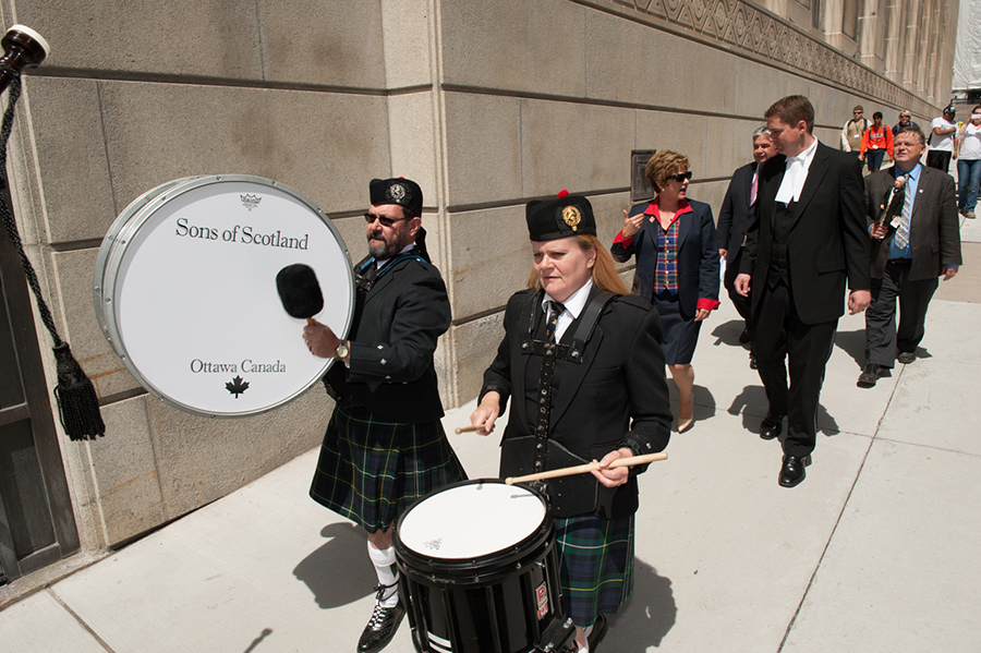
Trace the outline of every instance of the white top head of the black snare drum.
{"label": "white top head of the black snare drum", "polygon": [[399,541],[431,558],[477,558],[518,544],[545,517],[545,504],[524,487],[469,483],[437,492],[410,508],[399,523]]}

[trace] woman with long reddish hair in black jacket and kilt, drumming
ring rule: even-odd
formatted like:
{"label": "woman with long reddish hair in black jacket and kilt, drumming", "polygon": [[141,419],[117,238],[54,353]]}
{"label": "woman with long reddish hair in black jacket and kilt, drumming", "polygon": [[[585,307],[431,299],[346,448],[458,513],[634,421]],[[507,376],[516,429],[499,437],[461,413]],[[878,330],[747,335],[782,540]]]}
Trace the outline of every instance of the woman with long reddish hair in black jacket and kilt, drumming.
{"label": "woman with long reddish hair in black jacket and kilt, drumming", "polygon": [[[526,206],[533,269],[529,289],[508,301],[505,337],[484,373],[470,420],[486,435],[511,404],[501,440],[501,476],[663,450],[671,413],[661,321],[628,294],[596,239],[585,197]],[[632,589],[635,474],[602,469],[549,481],[561,553],[562,606],[576,624],[574,650],[596,650],[604,614]]]}

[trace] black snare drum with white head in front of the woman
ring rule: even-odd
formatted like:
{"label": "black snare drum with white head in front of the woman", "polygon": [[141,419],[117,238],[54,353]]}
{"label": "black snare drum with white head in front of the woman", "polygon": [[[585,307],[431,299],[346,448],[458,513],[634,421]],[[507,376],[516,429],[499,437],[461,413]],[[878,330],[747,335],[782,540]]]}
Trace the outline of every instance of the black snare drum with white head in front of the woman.
{"label": "black snare drum with white head in front of the woman", "polygon": [[574,634],[541,493],[496,480],[455,483],[410,506],[393,542],[417,651],[557,651]]}

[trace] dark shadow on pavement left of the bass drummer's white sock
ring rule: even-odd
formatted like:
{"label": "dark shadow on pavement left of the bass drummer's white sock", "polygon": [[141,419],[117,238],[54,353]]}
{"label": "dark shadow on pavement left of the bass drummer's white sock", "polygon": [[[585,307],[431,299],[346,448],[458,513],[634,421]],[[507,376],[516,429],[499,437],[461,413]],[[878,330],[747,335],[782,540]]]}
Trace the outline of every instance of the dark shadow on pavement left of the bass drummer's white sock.
{"label": "dark shadow on pavement left of the bass drummer's white sock", "polygon": [[303,558],[293,576],[306,583],[322,609],[354,603],[374,593],[375,570],[367,557],[367,539],[353,523],[332,523],[320,535],[327,543]]}

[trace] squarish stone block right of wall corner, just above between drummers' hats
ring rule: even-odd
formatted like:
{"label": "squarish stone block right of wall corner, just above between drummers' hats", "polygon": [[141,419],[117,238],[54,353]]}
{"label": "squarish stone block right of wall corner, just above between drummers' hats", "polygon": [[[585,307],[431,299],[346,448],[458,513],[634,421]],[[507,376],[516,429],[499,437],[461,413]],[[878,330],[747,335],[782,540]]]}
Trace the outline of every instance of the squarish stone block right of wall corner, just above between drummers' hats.
{"label": "squarish stone block right of wall corner, just above between drummers' hats", "polygon": [[445,116],[447,204],[521,197],[520,100],[447,93]]}

